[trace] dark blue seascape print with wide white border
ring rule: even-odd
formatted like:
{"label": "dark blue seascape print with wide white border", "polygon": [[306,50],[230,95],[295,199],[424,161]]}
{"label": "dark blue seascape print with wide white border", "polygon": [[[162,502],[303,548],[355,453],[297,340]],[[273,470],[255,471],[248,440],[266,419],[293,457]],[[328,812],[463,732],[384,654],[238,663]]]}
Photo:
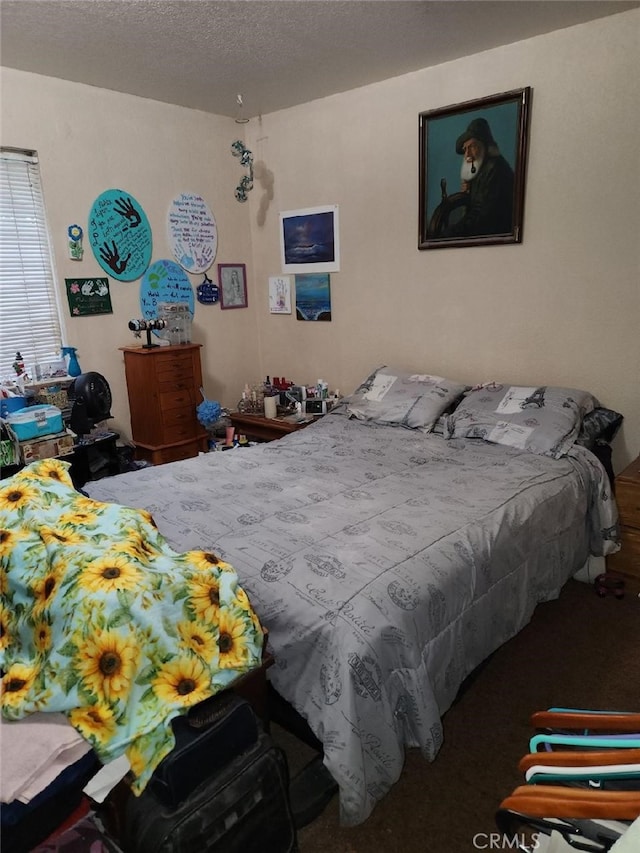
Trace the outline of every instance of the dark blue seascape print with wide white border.
{"label": "dark blue seascape print with wide white border", "polygon": [[282,272],[338,272],[338,205],[280,213]]}

